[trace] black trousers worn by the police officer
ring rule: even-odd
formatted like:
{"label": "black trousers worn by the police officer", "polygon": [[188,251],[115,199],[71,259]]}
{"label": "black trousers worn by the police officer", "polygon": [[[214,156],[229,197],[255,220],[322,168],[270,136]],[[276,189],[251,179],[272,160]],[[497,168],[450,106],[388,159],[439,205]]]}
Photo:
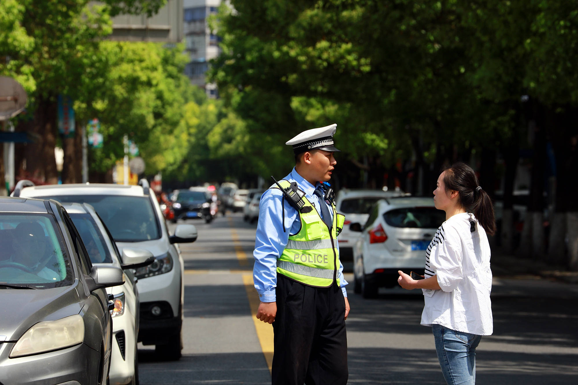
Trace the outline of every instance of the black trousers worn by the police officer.
{"label": "black trousers worn by the police officer", "polygon": [[341,288],[312,287],[277,274],[273,385],[347,383],[345,301]]}

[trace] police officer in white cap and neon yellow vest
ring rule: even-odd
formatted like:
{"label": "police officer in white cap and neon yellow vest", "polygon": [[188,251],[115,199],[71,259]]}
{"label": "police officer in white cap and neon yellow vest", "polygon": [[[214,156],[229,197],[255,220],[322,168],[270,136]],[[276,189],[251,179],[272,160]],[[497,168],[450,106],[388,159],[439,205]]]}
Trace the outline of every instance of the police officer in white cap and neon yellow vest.
{"label": "police officer in white cap and neon yellow vest", "polygon": [[286,143],[295,168],[259,205],[253,279],[261,300],[257,318],[275,332],[273,385],[347,383],[349,302],[336,239],[344,217],[322,183],[337,163],[336,126],[309,129]]}

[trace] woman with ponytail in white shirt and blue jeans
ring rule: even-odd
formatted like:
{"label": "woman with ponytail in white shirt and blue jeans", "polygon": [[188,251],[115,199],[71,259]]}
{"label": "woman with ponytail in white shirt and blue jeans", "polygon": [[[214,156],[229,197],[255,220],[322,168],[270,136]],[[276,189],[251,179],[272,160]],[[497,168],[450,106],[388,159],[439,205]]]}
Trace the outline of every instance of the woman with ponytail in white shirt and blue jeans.
{"label": "woman with ponytail in white shirt and blue jeans", "polygon": [[494,208],[473,169],[456,163],[438,178],[436,209],[446,212],[426,251],[424,279],[399,271],[398,283],[423,289],[421,324],[431,326],[446,382],[475,384],[476,347],[493,329],[490,244]]}

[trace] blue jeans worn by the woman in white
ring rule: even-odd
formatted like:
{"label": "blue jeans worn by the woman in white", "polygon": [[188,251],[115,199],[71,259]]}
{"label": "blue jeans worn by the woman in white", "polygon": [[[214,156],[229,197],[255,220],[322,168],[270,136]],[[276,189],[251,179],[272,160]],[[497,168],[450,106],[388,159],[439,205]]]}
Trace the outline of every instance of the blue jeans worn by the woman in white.
{"label": "blue jeans worn by the woman in white", "polygon": [[449,385],[476,383],[476,347],[481,336],[432,325],[435,350],[444,379]]}

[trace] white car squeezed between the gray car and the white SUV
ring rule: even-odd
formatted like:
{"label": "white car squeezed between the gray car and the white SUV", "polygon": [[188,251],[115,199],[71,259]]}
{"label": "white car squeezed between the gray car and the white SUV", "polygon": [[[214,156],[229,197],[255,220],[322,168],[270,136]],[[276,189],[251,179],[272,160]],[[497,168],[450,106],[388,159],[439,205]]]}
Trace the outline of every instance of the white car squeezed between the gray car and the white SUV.
{"label": "white car squeezed between the gray car and the white SUV", "polygon": [[92,265],[123,268],[124,284],[106,289],[109,299],[114,302],[114,309],[110,310],[113,344],[109,384],[138,384],[136,338],[139,330],[139,294],[132,269],[151,264],[154,256],[150,251],[125,247],[121,257],[106,225],[91,205],[64,203],[63,206],[82,238]]}

